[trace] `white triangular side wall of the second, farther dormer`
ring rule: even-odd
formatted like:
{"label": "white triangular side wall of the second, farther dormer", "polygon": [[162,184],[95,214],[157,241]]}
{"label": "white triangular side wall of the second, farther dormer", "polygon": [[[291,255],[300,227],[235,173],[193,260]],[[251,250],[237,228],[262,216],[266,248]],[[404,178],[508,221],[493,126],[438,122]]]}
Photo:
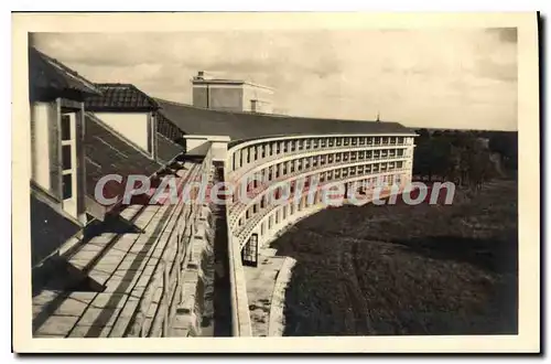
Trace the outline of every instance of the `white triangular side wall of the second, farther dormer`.
{"label": "white triangular side wall of the second, farther dormer", "polygon": [[150,138],[148,126],[149,113],[95,113],[105,124],[133,141],[143,151],[148,150]]}

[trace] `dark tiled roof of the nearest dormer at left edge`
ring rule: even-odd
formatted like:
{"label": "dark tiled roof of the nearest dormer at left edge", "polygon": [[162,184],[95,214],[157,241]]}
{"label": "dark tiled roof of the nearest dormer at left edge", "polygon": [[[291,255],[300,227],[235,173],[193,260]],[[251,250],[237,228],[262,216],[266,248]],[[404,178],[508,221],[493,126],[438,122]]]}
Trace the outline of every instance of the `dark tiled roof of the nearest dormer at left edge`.
{"label": "dark tiled roof of the nearest dormer at left edge", "polygon": [[36,89],[100,94],[91,82],[34,47],[29,47],[29,86],[31,94]]}

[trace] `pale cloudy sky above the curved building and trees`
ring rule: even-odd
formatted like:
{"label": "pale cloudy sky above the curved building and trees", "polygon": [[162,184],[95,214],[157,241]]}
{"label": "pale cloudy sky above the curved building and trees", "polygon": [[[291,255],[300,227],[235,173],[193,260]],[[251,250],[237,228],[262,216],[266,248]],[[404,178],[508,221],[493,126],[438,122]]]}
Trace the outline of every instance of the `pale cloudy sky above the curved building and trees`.
{"label": "pale cloudy sky above the curved building and trees", "polygon": [[191,104],[197,71],[273,87],[274,113],[517,130],[516,29],[37,33],[96,83]]}

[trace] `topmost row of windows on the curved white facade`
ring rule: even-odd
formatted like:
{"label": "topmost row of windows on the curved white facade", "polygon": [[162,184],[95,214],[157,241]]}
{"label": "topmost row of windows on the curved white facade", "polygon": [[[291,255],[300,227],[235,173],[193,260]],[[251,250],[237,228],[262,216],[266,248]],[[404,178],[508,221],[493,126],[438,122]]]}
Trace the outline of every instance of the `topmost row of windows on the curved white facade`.
{"label": "topmost row of windows on the curved white facade", "polygon": [[259,159],[289,152],[335,147],[403,146],[406,142],[409,142],[408,139],[406,137],[324,137],[263,142],[235,151],[233,156],[233,170]]}

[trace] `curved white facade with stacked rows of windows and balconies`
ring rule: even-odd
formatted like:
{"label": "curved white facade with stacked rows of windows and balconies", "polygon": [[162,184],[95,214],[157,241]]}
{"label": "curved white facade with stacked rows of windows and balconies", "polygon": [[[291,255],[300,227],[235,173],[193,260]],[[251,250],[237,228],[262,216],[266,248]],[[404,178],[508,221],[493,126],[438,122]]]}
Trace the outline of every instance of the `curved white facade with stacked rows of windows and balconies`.
{"label": "curved white facade with stacked rows of windows and balconies", "polygon": [[369,186],[403,188],[411,180],[412,152],[413,137],[406,132],[305,135],[237,143],[225,161],[226,181],[234,189],[230,231],[242,249],[251,236],[255,244],[263,244],[290,223],[326,207],[331,185],[344,201],[356,199],[355,203],[367,202]]}

